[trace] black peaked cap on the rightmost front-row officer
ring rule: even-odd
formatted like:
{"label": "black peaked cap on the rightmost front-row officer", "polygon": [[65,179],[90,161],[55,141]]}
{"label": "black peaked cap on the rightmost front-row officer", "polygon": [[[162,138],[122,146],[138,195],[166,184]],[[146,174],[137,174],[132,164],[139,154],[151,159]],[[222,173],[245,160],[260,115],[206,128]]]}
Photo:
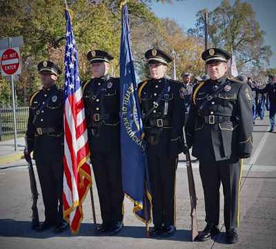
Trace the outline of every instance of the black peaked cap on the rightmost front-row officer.
{"label": "black peaked cap on the rightmost front-row officer", "polygon": [[223,63],[227,62],[230,58],[228,52],[221,50],[220,48],[209,48],[201,54],[201,58],[206,64]]}

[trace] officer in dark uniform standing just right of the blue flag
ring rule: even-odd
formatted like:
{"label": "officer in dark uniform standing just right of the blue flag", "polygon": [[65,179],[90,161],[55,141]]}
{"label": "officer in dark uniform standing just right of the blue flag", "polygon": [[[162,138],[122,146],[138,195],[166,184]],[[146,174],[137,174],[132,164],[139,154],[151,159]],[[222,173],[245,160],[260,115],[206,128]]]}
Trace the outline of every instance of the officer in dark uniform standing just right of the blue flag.
{"label": "officer in dark uniform standing just right of the blue flag", "polygon": [[184,126],[184,89],[181,83],[166,78],[172,58],[161,50],[145,54],[150,80],[138,87],[144,121],[146,153],[152,191],[150,236],[168,237],[175,232],[175,171],[181,152]]}

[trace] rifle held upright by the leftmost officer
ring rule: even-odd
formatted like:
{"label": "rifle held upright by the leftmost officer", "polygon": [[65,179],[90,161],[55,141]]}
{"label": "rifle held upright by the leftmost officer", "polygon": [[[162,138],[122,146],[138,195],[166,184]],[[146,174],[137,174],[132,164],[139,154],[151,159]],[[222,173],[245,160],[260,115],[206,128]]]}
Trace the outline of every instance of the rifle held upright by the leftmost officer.
{"label": "rifle held upright by the leftmost officer", "polygon": [[[27,136],[25,136],[25,151],[24,153],[28,152],[28,142]],[[30,155],[30,154],[29,154]],[[32,230],[39,226],[39,213],[37,210],[37,199],[38,199],[38,192],[37,192],[37,182],[35,181],[34,177],[34,169],[32,167],[32,160],[31,158],[28,160],[28,170],[29,170],[29,177],[30,177],[30,191],[32,192]]]}

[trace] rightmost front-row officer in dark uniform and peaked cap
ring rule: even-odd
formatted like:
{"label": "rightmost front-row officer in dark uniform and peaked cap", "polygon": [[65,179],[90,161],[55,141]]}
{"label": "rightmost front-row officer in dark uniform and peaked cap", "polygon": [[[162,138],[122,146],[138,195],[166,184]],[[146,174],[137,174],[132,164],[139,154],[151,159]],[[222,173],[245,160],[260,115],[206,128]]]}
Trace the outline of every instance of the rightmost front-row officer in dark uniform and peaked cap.
{"label": "rightmost front-row officer in dark uniform and peaked cap", "polygon": [[206,61],[209,80],[193,92],[186,123],[187,144],[199,158],[204,188],[206,228],[201,241],[219,233],[219,186],[224,188],[224,224],[228,243],[238,240],[239,188],[242,158],[250,157],[253,143],[250,87],[227,78],[228,52],[210,48],[201,55]]}

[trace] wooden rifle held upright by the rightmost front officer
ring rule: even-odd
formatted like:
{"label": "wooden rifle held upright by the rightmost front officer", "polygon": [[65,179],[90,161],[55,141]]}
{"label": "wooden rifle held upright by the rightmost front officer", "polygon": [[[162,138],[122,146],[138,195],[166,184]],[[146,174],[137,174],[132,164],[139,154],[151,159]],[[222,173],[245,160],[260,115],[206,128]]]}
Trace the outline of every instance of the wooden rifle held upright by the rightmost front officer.
{"label": "wooden rifle held upright by the rightmost front officer", "polygon": [[[186,134],[183,129],[183,135],[184,135],[184,144],[186,144]],[[195,193],[195,180],[193,176],[193,168],[192,168],[192,162],[190,161],[190,152],[187,148],[186,151],[186,166],[187,166],[187,175],[188,175],[188,186],[189,186],[189,193],[190,193],[190,217],[192,218],[192,224],[191,224],[191,240],[195,241],[198,236],[198,228],[197,228],[197,213],[196,213],[196,206],[197,206],[197,195]]]}

